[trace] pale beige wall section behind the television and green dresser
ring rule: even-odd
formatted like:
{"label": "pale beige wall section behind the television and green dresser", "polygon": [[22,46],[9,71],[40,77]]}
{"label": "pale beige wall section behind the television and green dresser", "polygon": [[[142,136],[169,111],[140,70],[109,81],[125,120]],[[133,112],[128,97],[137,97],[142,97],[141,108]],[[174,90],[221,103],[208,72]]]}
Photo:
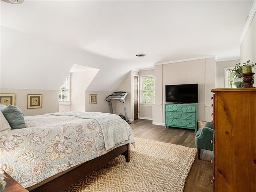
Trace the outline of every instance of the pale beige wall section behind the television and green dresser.
{"label": "pale beige wall section behind the television and green dresser", "polygon": [[[158,105],[153,107],[153,122],[164,124],[165,85],[193,83],[198,83],[198,120],[212,120],[211,90],[216,87],[215,71],[216,62],[214,57],[164,64],[162,69],[159,65],[156,65],[156,84],[162,88],[156,88],[155,100]],[[162,84],[160,85],[161,79]],[[161,112],[160,109],[162,109]]]}

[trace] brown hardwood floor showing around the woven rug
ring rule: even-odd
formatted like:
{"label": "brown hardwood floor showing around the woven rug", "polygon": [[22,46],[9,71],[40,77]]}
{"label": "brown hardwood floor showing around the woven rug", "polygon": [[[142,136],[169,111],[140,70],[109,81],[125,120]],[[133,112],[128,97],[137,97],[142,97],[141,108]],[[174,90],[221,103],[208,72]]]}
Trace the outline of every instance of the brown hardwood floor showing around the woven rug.
{"label": "brown hardwood floor showing around the woven rug", "polygon": [[[196,133],[192,129],[165,128],[163,125],[152,125],[152,120],[141,119],[132,121],[130,126],[135,137],[196,148]],[[190,174],[186,179],[184,192],[213,191],[213,186],[210,183],[213,178],[213,165],[210,163],[212,158],[213,152],[207,150],[201,150],[200,160],[196,156]]]}

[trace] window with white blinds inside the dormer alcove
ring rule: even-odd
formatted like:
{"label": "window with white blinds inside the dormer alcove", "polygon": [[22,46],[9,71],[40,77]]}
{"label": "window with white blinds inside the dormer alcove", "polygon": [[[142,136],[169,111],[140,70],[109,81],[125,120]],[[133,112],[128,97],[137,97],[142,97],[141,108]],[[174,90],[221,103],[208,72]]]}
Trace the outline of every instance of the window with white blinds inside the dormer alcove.
{"label": "window with white blinds inside the dormer alcove", "polygon": [[70,74],[66,76],[59,89],[59,102],[61,104],[70,103]]}

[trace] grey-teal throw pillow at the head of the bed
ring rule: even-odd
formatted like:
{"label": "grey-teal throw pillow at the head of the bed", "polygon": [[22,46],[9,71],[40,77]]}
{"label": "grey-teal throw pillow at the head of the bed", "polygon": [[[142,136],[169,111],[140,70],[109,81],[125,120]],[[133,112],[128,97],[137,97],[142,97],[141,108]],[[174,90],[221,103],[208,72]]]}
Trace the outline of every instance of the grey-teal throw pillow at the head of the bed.
{"label": "grey-teal throw pillow at the head of the bed", "polygon": [[14,105],[0,104],[0,110],[4,114],[4,117],[12,127],[12,129],[25,128],[26,123],[22,111]]}

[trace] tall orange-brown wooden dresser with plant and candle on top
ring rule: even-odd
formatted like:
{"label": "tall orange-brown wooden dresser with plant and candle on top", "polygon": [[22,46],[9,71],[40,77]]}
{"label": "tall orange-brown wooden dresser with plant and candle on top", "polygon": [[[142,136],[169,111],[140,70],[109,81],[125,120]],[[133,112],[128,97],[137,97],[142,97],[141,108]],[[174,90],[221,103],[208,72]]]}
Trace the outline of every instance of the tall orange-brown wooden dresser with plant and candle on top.
{"label": "tall orange-brown wooden dresser with plant and candle on top", "polygon": [[256,88],[212,92],[214,191],[256,192]]}

